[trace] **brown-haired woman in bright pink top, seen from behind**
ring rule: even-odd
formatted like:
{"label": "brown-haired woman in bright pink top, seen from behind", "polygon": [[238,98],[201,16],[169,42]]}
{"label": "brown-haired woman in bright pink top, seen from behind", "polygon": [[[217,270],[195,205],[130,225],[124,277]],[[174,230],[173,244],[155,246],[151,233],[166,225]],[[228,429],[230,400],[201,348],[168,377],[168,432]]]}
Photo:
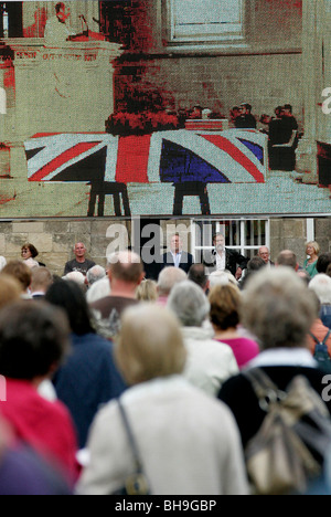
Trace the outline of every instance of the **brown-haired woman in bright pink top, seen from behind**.
{"label": "brown-haired woman in bright pink top, seen from behind", "polygon": [[214,339],[225,342],[232,348],[239,369],[259,352],[258,344],[242,336],[237,330],[241,297],[241,291],[233,284],[216,285],[209,295],[210,318],[215,333]]}

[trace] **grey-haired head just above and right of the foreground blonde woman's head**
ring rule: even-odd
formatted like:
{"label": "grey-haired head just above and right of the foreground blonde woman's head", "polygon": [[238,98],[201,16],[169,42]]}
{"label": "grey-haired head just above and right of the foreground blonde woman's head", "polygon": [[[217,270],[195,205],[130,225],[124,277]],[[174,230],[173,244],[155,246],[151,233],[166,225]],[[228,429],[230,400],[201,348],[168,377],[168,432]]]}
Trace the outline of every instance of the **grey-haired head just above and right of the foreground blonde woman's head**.
{"label": "grey-haired head just above and right of the foreground blonde woman's head", "polygon": [[204,292],[189,279],[173,286],[167,307],[177,315],[183,327],[201,327],[210,312]]}

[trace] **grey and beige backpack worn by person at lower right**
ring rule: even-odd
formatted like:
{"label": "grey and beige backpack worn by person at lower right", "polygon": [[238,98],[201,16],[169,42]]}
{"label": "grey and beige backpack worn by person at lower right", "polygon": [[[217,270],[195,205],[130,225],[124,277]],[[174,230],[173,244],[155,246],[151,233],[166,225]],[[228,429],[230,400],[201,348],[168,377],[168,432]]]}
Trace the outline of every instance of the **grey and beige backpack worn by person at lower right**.
{"label": "grey and beige backpack worn by person at lower right", "polygon": [[254,495],[302,494],[322,473],[331,443],[328,408],[303,376],[281,391],[259,368],[243,372],[266,411],[245,447]]}

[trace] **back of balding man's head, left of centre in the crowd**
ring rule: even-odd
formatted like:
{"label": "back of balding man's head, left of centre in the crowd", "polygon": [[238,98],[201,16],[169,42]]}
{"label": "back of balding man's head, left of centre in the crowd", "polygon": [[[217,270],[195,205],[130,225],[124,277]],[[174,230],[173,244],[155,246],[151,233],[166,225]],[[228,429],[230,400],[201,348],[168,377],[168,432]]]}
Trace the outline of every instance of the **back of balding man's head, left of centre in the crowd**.
{"label": "back of balding man's head, left of centre in the crowd", "polygon": [[108,261],[108,276],[111,292],[121,288],[135,296],[145,276],[140,256],[131,251],[114,253]]}

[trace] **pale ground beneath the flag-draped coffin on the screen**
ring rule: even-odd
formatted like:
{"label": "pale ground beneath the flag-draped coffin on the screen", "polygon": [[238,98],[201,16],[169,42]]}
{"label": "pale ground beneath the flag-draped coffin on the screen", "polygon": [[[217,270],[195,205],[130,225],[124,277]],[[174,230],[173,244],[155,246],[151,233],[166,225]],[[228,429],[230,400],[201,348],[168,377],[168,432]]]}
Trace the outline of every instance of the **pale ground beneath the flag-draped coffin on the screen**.
{"label": "pale ground beneath the flag-draped coffin on the screen", "polygon": [[[298,181],[296,171],[268,171],[265,183],[210,183],[211,215],[331,215],[329,188]],[[85,218],[89,186],[20,181],[15,196],[1,197],[0,218]],[[4,183],[2,183],[4,186]],[[171,183],[129,183],[131,215],[172,217]],[[114,217],[111,196],[106,196],[105,217]],[[182,215],[201,215],[199,198],[185,197]],[[96,213],[95,213],[96,217]]]}

